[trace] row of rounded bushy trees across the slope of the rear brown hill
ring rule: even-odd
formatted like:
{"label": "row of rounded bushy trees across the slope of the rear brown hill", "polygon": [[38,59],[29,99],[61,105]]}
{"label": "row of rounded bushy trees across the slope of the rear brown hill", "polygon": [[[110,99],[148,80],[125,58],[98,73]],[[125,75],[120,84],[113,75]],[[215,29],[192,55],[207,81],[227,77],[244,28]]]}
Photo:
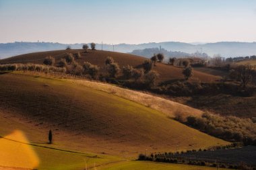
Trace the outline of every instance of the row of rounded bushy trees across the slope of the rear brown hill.
{"label": "row of rounded bushy trees across the slope of the rear brown hill", "polygon": [[[92,65],[90,62],[84,62],[83,65],[79,65],[75,60],[80,57],[79,52],[75,54],[67,53],[63,55],[59,62],[55,63],[55,58],[47,56],[44,58],[44,65],[57,65],[57,67],[65,68],[66,73],[70,75],[88,75],[92,79],[97,79],[99,76],[99,67]],[[160,61],[162,61],[162,59]],[[107,77],[110,79],[115,79],[117,81],[125,79],[148,88],[153,87],[156,84],[158,73],[152,71],[154,63],[151,60],[145,60],[142,64],[142,69],[135,69],[129,65],[120,68],[119,64],[110,56],[106,58],[104,64],[106,72],[108,73]]]}

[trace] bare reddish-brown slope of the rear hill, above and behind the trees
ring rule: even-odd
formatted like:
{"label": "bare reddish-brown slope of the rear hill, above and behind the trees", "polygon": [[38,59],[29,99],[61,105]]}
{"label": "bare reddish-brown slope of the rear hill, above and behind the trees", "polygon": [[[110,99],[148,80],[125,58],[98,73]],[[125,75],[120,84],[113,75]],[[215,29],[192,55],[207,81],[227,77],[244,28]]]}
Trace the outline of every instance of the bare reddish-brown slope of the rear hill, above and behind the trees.
{"label": "bare reddish-brown slope of the rear hill, above and behind the trees", "polygon": [[[77,62],[80,64],[83,64],[84,61],[91,62],[93,65],[98,65],[104,71],[104,61],[107,56],[112,56],[116,62],[119,63],[121,67],[126,65],[131,65],[133,67],[139,67],[143,63],[146,58],[143,58],[141,56],[135,56],[132,54],[125,54],[120,52],[109,52],[109,51],[91,51],[89,50],[88,53],[84,53],[84,50],[56,50],[56,51],[49,51],[49,52],[34,52],[30,54],[22,54],[19,56],[13,56],[11,58],[5,58],[1,60],[0,63],[14,63],[14,62],[32,62],[32,63],[38,63],[42,64],[44,58],[46,56],[54,56],[56,58],[56,61],[60,60],[62,54],[65,54],[67,52],[75,53],[80,52],[82,54],[82,58],[79,58]],[[165,65],[162,63],[157,63],[156,67],[154,67],[154,70],[156,70],[160,74],[160,78],[158,81],[168,81],[172,79],[184,79],[182,75],[182,68],[179,67],[172,67],[170,65]],[[201,71],[194,71],[192,81],[202,81],[202,82],[212,82],[220,79],[220,77],[217,75],[211,75],[207,73],[203,73]]]}

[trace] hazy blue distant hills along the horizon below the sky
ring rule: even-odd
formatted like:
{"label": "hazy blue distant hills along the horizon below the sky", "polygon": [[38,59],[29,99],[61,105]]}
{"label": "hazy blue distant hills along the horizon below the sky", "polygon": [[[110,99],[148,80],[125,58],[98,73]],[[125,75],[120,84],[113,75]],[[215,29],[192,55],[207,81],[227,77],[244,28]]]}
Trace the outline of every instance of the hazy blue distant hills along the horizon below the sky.
{"label": "hazy blue distant hills along the horizon below the sky", "polygon": [[[63,50],[67,46],[82,48],[81,44],[61,44],[53,42],[12,42],[0,44],[0,58],[7,58],[18,54],[40,52],[46,50]],[[205,52],[209,56],[220,54],[224,57],[251,56],[256,54],[256,42],[216,42],[206,44],[189,44],[184,42],[150,42],[144,44],[96,44],[97,49],[115,50],[116,52],[133,52],[145,48],[164,48],[171,52]],[[182,53],[181,53],[182,54]]]}

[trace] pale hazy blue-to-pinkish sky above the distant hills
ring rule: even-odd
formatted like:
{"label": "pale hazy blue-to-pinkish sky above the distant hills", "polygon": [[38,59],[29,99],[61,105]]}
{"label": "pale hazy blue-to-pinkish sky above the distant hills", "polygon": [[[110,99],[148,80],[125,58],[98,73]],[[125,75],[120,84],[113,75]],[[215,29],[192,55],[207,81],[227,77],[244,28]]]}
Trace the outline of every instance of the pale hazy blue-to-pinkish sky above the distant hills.
{"label": "pale hazy blue-to-pinkish sky above the distant hills", "polygon": [[256,0],[0,0],[0,42],[256,41]]}

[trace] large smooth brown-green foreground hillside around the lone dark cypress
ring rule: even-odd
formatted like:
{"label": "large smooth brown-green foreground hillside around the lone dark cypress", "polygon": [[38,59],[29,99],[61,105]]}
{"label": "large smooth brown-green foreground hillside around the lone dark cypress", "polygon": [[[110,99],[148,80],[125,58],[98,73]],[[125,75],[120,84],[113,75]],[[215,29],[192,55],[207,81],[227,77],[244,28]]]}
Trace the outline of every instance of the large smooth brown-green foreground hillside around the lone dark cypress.
{"label": "large smooth brown-green foreground hillside around the lone dark cypress", "polygon": [[[86,84],[20,73],[0,75],[0,136],[22,130],[36,145],[42,167],[67,165],[69,156],[81,167],[83,154],[94,160],[90,165],[100,165],[134,159],[146,150],[154,153],[228,144],[139,102]],[[46,143],[50,129],[51,145]],[[65,152],[62,160],[60,149],[77,153]],[[55,158],[47,156],[50,151]]]}

